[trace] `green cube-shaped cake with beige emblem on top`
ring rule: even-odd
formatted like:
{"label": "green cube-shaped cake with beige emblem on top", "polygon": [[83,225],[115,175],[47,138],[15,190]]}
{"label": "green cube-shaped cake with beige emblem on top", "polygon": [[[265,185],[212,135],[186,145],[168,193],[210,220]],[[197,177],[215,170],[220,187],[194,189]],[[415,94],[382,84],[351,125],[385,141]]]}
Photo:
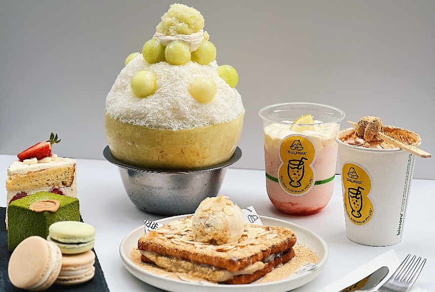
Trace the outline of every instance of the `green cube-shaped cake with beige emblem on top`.
{"label": "green cube-shaped cake with beige emblem on top", "polygon": [[7,248],[13,251],[31,236],[46,239],[50,225],[59,221],[80,221],[77,198],[39,192],[12,201],[7,208]]}

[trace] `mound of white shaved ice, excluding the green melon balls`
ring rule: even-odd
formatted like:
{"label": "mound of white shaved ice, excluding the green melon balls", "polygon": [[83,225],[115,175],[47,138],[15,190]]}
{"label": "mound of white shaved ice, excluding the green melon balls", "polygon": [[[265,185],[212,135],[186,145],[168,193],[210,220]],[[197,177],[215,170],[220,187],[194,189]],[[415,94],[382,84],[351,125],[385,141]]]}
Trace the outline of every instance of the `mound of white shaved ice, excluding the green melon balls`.
{"label": "mound of white shaved ice, excluding the green melon balls", "polygon": [[[148,64],[138,54],[118,75],[106,98],[106,114],[123,123],[157,129],[192,129],[230,122],[244,113],[242,99],[236,89],[221,79],[216,63],[200,65],[188,61],[184,65],[167,62]],[[153,72],[157,90],[148,97],[136,97],[131,79],[141,70]],[[209,103],[193,98],[188,88],[198,77],[212,78],[217,93]]]}

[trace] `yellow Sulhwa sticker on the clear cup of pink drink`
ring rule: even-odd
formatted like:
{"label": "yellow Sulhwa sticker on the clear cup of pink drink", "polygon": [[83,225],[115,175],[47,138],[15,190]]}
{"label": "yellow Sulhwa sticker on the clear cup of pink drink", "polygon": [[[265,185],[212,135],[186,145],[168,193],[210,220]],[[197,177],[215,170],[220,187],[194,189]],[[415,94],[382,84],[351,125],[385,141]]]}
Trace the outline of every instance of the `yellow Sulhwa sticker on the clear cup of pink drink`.
{"label": "yellow Sulhwa sticker on the clear cup of pink drink", "polygon": [[314,143],[302,135],[290,135],[281,141],[279,148],[281,165],[278,182],[290,195],[304,195],[314,186],[316,159]]}

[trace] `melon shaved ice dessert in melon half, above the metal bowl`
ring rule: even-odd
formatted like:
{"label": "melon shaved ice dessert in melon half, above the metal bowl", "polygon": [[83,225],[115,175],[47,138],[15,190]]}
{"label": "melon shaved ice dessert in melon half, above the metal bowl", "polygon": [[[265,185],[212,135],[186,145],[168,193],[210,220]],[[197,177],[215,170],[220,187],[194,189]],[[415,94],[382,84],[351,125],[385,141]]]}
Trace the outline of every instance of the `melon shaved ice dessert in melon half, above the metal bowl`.
{"label": "melon shaved ice dessert in melon half, above the metal bowl", "polygon": [[218,66],[201,13],[173,4],[142,52],[129,55],[106,98],[112,155],[148,169],[199,169],[228,160],[244,107],[237,71]]}

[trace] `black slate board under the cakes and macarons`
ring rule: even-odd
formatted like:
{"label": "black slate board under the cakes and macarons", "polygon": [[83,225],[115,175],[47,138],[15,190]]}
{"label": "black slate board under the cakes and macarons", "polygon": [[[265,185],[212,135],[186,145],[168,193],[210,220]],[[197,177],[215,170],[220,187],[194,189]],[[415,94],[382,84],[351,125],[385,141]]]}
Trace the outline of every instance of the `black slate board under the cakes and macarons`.
{"label": "black slate board under the cakes and macarons", "polygon": [[[0,291],[22,292],[25,290],[18,289],[15,286],[13,286],[10,283],[9,276],[7,274],[7,265],[9,263],[9,258],[12,253],[9,252],[9,250],[7,250],[7,231],[6,231],[6,224],[4,223],[5,215],[6,215],[6,208],[0,207]],[[74,286],[53,285],[45,291],[47,292],[50,291],[51,292],[53,291],[108,292],[109,288],[107,287],[106,278],[104,278],[104,273],[103,270],[101,269],[100,262],[98,261],[98,257],[93,248],[92,251],[95,253],[95,263],[94,263],[95,275],[90,281]]]}

